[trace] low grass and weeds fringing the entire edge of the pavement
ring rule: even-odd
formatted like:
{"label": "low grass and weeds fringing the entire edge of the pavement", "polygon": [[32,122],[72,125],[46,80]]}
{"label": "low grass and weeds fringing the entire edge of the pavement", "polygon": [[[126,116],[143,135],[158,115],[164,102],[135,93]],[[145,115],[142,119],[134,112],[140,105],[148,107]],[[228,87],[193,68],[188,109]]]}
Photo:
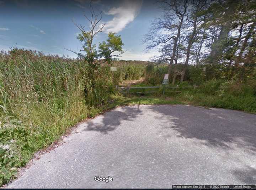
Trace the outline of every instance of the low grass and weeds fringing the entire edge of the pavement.
{"label": "low grass and weeds fringing the entire edge of the pavement", "polygon": [[[71,106],[71,110],[63,110],[62,112],[59,112],[59,114],[55,114],[52,117],[50,117],[51,113],[47,112],[47,107],[42,109],[43,106],[41,106],[37,112],[33,111],[33,114],[31,115],[32,120],[37,120],[37,128],[28,128],[28,123],[16,123],[16,129],[9,131],[9,138],[7,137],[8,135],[5,135],[7,138],[6,140],[15,139],[16,145],[11,146],[10,151],[16,151],[16,155],[14,155],[14,157],[9,157],[9,160],[15,161],[14,164],[11,164],[10,168],[6,167],[5,169],[2,169],[2,172],[5,172],[5,181],[2,183],[7,182],[10,178],[14,178],[16,176],[17,167],[25,166],[25,164],[33,156],[34,152],[42,149],[43,147],[49,146],[52,142],[58,140],[60,136],[65,134],[70,127],[83,119],[94,117],[99,113],[111,110],[115,107],[126,105],[188,104],[195,106],[222,107],[229,109],[235,108],[237,110],[244,110],[239,106],[234,107],[234,104],[232,103],[227,105],[224,104],[224,102],[227,102],[225,100],[224,102],[221,101],[222,100],[219,100],[219,97],[217,96],[205,95],[203,93],[192,94],[190,91],[184,91],[182,94],[176,94],[173,96],[164,95],[159,97],[152,95],[131,95],[129,97],[111,95],[108,101],[100,107],[88,108],[83,106],[84,104],[80,102],[79,106]],[[251,113],[256,113],[256,111],[248,111]],[[63,117],[63,115],[65,115],[65,117]],[[49,117],[49,119],[45,120],[44,118],[47,117]],[[11,118],[9,118],[8,122],[12,125],[15,123],[15,121],[12,121]],[[3,158],[8,158],[9,153],[10,152],[5,152]],[[8,164],[10,164],[10,162]]]}

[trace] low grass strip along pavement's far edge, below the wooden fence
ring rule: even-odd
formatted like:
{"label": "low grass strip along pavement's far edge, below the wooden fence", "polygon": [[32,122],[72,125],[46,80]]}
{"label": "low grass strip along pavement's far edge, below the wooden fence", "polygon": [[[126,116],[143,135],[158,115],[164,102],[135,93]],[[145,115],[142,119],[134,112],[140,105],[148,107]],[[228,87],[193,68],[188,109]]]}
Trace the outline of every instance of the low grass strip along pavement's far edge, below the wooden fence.
{"label": "low grass strip along pavement's far edge, below the wooden fence", "polygon": [[[256,114],[256,102],[255,97],[223,97],[213,95],[205,95],[203,93],[193,93],[188,94],[183,92],[182,94],[161,95],[155,97],[153,95],[147,96],[137,96],[130,95],[129,97],[124,96],[111,96],[113,102],[110,105],[105,105],[101,109],[108,110],[117,106],[126,105],[176,105],[176,104],[186,104],[193,106],[204,106],[204,107],[215,107],[215,108],[225,108],[231,110],[240,110],[248,113]],[[252,104],[254,102],[254,104]]]}

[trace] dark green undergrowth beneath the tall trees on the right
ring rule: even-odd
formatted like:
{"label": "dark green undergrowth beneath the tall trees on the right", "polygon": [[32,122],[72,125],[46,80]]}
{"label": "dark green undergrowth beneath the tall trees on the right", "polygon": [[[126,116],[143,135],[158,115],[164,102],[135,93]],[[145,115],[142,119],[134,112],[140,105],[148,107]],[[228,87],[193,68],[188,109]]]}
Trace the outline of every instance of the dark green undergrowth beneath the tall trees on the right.
{"label": "dark green undergrowth beneath the tall trees on the right", "polygon": [[[160,85],[164,78],[164,73],[168,71],[168,66],[148,65],[146,71],[145,83],[148,85]],[[192,85],[196,84],[205,88],[196,91],[193,88],[190,88],[191,90],[182,89],[181,94],[176,94],[174,90],[166,89],[166,96],[176,97],[177,100],[194,105],[256,113],[256,67],[190,65],[188,66],[186,81],[181,83],[179,77],[181,75],[177,75],[175,86],[192,87]],[[161,95],[161,93],[158,94]]]}

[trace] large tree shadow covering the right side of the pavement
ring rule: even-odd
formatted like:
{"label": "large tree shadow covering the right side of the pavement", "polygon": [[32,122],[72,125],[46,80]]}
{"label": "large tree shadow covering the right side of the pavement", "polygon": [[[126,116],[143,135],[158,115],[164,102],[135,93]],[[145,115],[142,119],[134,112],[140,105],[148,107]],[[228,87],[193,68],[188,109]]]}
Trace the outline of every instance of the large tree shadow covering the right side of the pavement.
{"label": "large tree shadow covering the right side of the pavement", "polygon": [[[234,110],[208,110],[186,105],[149,106],[170,122],[162,124],[159,133],[171,137],[198,139],[207,146],[232,149],[233,146],[256,151],[256,115]],[[159,117],[158,117],[159,119]],[[172,130],[170,130],[172,129]]]}

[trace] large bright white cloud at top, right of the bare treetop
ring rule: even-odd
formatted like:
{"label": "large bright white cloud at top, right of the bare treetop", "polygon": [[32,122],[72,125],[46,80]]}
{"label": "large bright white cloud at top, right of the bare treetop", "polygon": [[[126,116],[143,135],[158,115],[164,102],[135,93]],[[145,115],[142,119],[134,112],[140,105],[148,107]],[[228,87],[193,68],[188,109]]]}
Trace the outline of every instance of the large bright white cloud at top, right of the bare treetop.
{"label": "large bright white cloud at top, right of the bare treetop", "polygon": [[106,23],[104,32],[120,32],[123,30],[127,24],[136,18],[141,6],[142,0],[124,0],[121,6],[113,7],[105,12],[107,15],[113,15],[114,17]]}

